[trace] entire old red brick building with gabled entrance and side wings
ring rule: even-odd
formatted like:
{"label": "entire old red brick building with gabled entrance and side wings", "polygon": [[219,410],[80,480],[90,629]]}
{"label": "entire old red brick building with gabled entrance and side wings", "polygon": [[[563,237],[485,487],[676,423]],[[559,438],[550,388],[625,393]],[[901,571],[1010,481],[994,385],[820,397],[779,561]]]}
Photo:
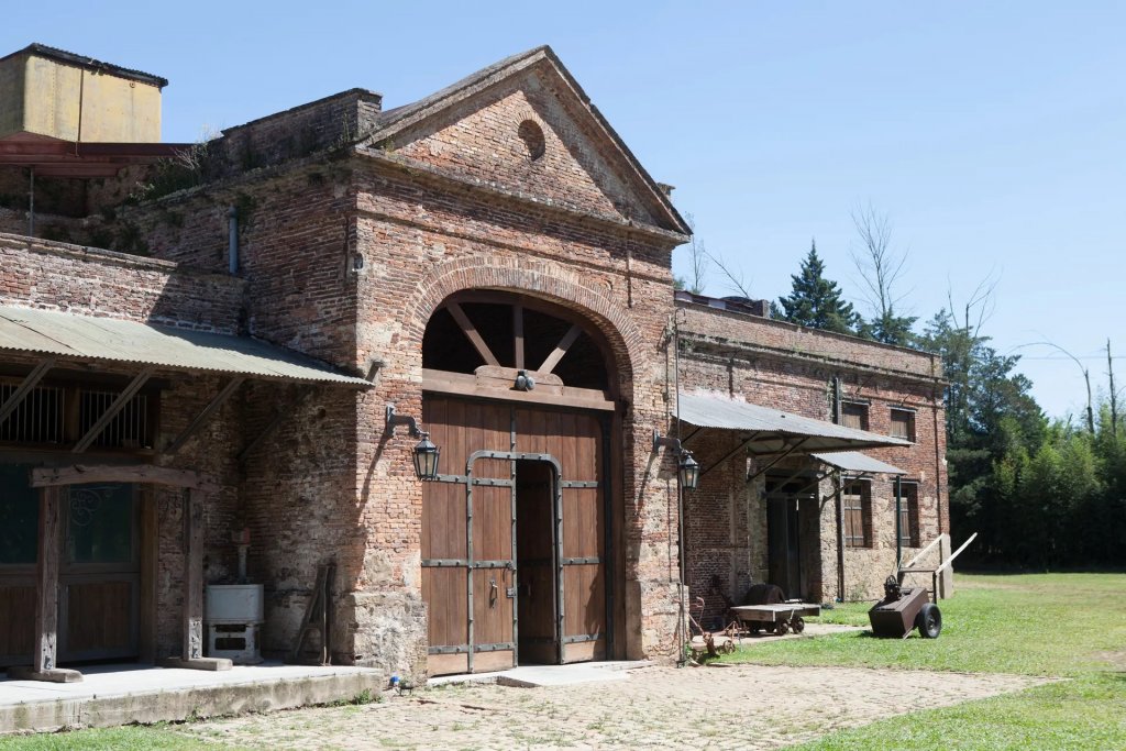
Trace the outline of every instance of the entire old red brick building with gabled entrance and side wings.
{"label": "entire old red brick building with gabled entrance and side wings", "polygon": [[674,298],[685,222],[547,47],[206,146],[30,127],[0,129],[5,664],[205,660],[248,537],[267,654],[323,594],[313,644],[387,671],[671,656],[681,539],[716,617],[891,572],[887,475],[814,450],[902,468],[906,547],[948,529],[937,360]]}

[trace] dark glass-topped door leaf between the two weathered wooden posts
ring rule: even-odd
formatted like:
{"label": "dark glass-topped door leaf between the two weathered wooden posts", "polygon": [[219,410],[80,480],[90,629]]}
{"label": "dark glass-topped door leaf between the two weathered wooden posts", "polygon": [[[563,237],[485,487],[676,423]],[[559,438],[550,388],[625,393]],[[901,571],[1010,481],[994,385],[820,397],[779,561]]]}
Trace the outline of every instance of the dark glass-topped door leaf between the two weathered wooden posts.
{"label": "dark glass-topped door leaf between the two weathered wooden posts", "polygon": [[59,575],[59,661],[138,654],[141,555],[135,486],[72,485]]}

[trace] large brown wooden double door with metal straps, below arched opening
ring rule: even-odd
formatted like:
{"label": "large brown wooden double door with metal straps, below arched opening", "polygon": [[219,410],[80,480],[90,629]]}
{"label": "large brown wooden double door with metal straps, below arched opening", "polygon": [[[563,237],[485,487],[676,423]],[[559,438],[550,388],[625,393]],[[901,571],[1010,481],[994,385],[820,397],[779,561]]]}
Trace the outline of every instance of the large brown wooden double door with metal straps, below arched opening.
{"label": "large brown wooden double door with metal straps, below arched opening", "polygon": [[430,674],[605,659],[613,645],[608,419],[428,395]]}

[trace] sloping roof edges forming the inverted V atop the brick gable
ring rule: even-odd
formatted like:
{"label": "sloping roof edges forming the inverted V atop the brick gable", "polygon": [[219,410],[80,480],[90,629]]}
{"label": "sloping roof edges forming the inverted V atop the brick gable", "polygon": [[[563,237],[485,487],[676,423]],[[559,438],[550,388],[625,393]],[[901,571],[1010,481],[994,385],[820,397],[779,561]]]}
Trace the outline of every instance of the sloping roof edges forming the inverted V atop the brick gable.
{"label": "sloping roof edges forming the inverted V atop the brick gable", "polygon": [[575,95],[584,110],[591,118],[591,125],[596,131],[601,132],[614,144],[619,155],[620,167],[625,168],[628,177],[633,178],[637,188],[647,194],[647,202],[656,209],[654,215],[662,216],[677,232],[688,235],[691,230],[685,222],[680,213],[677,212],[668,195],[650,173],[642,167],[641,162],[625,144],[617,132],[602,117],[602,114],[590,101],[590,97],[582,90],[579,82],[574,80],[570,71],[563,65],[555,52],[547,45],[528,50],[510,57],[482,68],[477,72],[467,75],[456,83],[446,87],[428,97],[419,99],[402,107],[386,109],[379,115],[378,124],[373,134],[366,140],[369,145],[376,145],[392,138],[396,133],[404,131],[418,123],[421,123],[435,115],[454,107],[465,99],[484,91],[502,81],[510,79],[528,69],[546,66],[557,74],[566,87]]}

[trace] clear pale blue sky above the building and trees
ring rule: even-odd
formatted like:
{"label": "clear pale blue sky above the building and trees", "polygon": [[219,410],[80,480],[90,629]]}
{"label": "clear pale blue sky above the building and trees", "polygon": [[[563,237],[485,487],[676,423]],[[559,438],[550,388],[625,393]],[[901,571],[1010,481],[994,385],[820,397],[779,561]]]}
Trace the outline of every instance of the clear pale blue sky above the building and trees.
{"label": "clear pale blue sky above the building and trees", "polygon": [[[42,42],[168,78],[168,141],[351,87],[394,107],[551,44],[756,296],[786,293],[815,236],[858,297],[849,214],[870,202],[910,250],[914,314],[992,274],[998,348],[1051,340],[1091,358],[1097,386],[1106,339],[1126,355],[1124,36],[1126,3],[1109,0],[8,0],[0,15],[0,52]],[[1081,406],[1075,363],[1019,351],[1049,414]]]}

